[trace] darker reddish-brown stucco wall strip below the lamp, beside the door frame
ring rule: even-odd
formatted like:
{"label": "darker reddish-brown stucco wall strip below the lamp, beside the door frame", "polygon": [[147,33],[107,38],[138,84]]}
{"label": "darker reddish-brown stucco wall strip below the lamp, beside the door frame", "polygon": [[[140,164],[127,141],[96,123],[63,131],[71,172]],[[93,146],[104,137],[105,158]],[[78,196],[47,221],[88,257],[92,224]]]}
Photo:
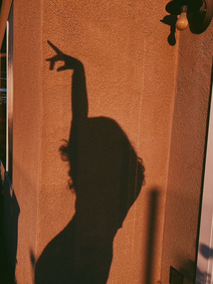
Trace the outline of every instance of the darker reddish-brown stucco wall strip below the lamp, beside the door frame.
{"label": "darker reddish-brown stucco wall strip below the lamp, beside the door frame", "polygon": [[205,129],[212,68],[213,23],[203,34],[180,33],[172,124],[161,281],[172,265],[192,283]]}

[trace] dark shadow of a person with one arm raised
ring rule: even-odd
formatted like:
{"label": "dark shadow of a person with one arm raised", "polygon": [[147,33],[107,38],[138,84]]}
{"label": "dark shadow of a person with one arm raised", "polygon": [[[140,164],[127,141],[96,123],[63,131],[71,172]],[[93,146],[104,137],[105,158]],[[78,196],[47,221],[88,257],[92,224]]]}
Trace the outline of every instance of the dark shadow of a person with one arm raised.
{"label": "dark shadow of a person with one arm raised", "polygon": [[60,148],[69,161],[76,214],[43,250],[35,284],[105,284],[113,256],[113,238],[122,227],[144,180],[144,167],[120,126],[107,117],[87,117],[83,64],[48,41],[56,56],[50,70],[72,73],[72,122],[69,141]]}

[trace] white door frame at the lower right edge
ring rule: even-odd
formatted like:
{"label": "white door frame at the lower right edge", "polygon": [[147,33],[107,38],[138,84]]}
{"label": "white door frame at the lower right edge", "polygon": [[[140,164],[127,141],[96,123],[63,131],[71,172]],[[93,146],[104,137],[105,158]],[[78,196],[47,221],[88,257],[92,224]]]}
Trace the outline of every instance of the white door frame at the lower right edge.
{"label": "white door frame at the lower right edge", "polygon": [[213,92],[203,184],[196,284],[213,284]]}

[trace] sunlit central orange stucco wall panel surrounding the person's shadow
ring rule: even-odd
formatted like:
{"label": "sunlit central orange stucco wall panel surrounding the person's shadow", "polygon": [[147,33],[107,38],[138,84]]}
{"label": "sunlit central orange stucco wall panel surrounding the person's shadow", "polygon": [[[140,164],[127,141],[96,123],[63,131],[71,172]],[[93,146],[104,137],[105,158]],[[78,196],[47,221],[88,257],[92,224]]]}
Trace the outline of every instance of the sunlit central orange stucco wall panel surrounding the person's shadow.
{"label": "sunlit central orange stucco wall panel surrounding the person's shadow", "polygon": [[[43,124],[38,258],[75,213],[68,164],[71,71],[49,70],[51,41],[85,67],[89,117],[114,119],[145,167],[146,184],[113,242],[107,283],[157,283],[175,93],[177,45],[160,22],[166,1],[43,1]],[[57,261],[57,259],[56,259]],[[147,276],[149,275],[149,276]],[[148,278],[147,278],[148,277]],[[150,278],[149,278],[150,277]]]}

